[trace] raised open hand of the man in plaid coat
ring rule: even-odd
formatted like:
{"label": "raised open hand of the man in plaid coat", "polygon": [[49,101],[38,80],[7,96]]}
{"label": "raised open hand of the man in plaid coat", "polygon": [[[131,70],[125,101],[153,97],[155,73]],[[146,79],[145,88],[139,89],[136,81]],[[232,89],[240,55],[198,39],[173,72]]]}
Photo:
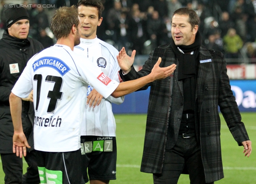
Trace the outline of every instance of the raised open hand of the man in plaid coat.
{"label": "raised open hand of the man in plaid coat", "polygon": [[118,61],[118,65],[119,65],[120,69],[122,69],[125,74],[130,72],[131,66],[134,62],[135,54],[136,54],[136,51],[133,50],[131,57],[128,56],[126,54],[126,51],[125,51],[124,47],[123,47],[121,49],[121,51],[119,52],[119,54],[116,56],[117,61]]}

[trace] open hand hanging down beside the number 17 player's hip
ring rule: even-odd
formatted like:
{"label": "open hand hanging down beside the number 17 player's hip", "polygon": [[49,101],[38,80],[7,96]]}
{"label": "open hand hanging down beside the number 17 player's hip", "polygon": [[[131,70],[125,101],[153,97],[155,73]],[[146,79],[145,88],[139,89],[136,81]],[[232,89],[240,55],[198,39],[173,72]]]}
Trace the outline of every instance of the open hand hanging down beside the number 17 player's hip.
{"label": "open hand hanging down beside the number 17 player's hip", "polygon": [[16,153],[17,157],[20,157],[20,158],[22,158],[22,154],[24,155],[24,157],[26,157],[27,155],[26,147],[30,148],[30,146],[28,145],[28,141],[25,134],[23,132],[14,131],[12,142],[13,142],[13,146],[12,146],[13,153]]}

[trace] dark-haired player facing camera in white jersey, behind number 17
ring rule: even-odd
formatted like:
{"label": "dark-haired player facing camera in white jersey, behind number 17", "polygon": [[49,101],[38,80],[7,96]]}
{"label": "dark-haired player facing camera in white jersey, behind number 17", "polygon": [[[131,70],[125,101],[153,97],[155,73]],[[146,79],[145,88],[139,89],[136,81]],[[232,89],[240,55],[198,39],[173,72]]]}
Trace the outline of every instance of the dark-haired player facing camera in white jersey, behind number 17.
{"label": "dark-haired player facing camera in white jersey, behind number 17", "polygon": [[[96,35],[97,27],[102,22],[102,3],[100,0],[80,0],[77,7],[82,25],[81,42],[74,47],[74,52],[90,59],[110,79],[122,82],[116,59],[118,50]],[[93,86],[88,86],[87,96],[91,91],[96,92]],[[85,182],[90,179],[90,184],[107,184],[116,179],[116,122],[111,103],[121,104],[124,96],[109,96],[99,102],[94,108],[86,105],[81,124],[82,171]],[[108,149],[102,150],[104,145],[108,145]]]}

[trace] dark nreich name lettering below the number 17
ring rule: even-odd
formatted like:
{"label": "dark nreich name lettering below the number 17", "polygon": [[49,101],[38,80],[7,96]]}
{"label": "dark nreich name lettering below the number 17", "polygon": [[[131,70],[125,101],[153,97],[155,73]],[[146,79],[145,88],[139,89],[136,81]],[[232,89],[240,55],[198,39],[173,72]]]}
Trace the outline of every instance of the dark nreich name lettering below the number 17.
{"label": "dark nreich name lettering below the number 17", "polygon": [[60,127],[61,120],[60,116],[51,118],[35,116],[34,125],[40,127]]}

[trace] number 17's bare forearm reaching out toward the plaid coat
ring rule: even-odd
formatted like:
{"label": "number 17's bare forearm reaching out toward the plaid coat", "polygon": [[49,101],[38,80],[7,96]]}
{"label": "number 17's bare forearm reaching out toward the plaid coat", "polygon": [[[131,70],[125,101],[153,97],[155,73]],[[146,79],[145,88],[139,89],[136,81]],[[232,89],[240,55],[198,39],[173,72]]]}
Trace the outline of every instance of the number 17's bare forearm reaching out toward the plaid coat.
{"label": "number 17's bare forearm reaching out toward the plaid coat", "polygon": [[118,98],[120,96],[124,96],[126,94],[130,94],[146,84],[153,82],[155,79],[151,74],[148,74],[147,76],[138,78],[136,80],[130,80],[126,82],[121,82],[116,90],[111,94],[111,96]]}

